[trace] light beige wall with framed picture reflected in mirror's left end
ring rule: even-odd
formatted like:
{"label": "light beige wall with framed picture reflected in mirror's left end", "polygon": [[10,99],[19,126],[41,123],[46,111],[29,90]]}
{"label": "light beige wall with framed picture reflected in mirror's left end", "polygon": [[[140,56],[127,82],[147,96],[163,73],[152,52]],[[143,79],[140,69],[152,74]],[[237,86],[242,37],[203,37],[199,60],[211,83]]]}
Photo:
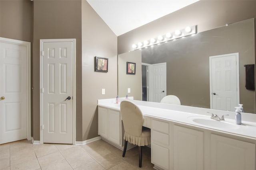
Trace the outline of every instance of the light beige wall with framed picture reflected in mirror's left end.
{"label": "light beige wall with framed picture reflected in mirror's left end", "polygon": [[[136,74],[126,74],[126,62],[136,63]],[[141,51],[131,51],[118,55],[118,96],[133,96],[134,100],[142,100]],[[128,92],[130,88],[131,93]]]}

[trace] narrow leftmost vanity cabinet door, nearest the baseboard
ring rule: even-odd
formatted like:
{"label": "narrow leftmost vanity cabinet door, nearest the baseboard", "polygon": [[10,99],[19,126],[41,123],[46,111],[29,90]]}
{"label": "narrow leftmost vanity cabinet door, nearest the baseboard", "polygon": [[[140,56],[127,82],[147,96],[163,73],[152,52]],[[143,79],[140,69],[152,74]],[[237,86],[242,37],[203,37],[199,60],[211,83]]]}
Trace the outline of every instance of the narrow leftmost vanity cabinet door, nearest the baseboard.
{"label": "narrow leftmost vanity cabinet door, nearest the baseboard", "polygon": [[108,137],[108,109],[98,107],[98,135]]}

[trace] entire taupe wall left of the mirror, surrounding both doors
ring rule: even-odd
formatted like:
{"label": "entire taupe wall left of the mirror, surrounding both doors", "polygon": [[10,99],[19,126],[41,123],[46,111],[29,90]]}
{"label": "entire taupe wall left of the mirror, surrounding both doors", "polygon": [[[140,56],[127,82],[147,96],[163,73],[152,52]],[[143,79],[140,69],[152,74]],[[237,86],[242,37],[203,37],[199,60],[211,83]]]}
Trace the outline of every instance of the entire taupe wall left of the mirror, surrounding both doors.
{"label": "entire taupe wall left of the mirror, surrounding both doors", "polygon": [[[32,42],[34,140],[40,140],[40,39],[76,39],[76,141],[98,136],[97,100],[117,95],[116,35],[86,0],[1,0],[0,10],[0,36]],[[94,72],[94,56],[109,59],[107,73]]]}

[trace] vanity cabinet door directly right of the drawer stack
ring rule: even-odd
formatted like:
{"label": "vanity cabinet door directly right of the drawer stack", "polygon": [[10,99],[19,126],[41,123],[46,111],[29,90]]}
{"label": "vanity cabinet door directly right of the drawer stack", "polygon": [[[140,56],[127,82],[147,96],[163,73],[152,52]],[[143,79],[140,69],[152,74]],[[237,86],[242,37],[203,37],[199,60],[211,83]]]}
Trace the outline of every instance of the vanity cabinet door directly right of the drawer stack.
{"label": "vanity cabinet door directly right of the drawer stack", "polygon": [[186,127],[173,127],[174,170],[204,169],[204,133]]}

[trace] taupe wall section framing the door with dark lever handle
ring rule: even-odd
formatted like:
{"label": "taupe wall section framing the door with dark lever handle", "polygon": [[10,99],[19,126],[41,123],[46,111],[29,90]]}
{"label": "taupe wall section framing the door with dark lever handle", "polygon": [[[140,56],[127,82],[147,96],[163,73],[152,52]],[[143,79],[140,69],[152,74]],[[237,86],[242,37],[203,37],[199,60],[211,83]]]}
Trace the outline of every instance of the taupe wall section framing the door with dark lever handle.
{"label": "taupe wall section framing the door with dark lever handle", "polygon": [[82,25],[80,0],[34,0],[32,137],[40,140],[40,39],[76,39],[76,141],[82,141]]}

